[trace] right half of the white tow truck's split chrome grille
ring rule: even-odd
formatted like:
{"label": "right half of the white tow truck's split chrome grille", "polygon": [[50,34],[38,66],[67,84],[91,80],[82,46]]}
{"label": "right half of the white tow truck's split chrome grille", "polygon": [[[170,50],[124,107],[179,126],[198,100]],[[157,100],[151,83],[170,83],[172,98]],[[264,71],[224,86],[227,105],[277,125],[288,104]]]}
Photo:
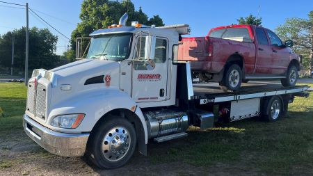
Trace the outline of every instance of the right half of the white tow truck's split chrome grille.
{"label": "right half of the white tow truck's split chrome grille", "polygon": [[42,84],[38,83],[35,115],[39,118],[44,118],[46,113],[46,88]]}

